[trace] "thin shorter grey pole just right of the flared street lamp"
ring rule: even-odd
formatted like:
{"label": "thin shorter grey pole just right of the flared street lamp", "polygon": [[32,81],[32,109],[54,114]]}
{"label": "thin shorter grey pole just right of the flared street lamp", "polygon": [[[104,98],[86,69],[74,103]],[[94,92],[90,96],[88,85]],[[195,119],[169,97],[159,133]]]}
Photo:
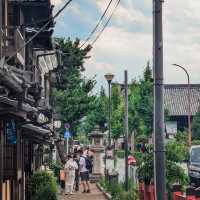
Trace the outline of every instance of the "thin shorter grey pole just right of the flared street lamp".
{"label": "thin shorter grey pole just right of the flared street lamp", "polygon": [[128,72],[124,71],[125,92],[125,189],[128,191]]}

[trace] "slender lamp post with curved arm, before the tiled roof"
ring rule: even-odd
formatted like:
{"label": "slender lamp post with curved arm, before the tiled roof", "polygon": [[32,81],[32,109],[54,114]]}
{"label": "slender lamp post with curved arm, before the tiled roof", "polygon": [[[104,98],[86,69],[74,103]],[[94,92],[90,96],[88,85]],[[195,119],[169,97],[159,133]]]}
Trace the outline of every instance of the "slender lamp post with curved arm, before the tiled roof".
{"label": "slender lamp post with curved arm, before the tiled roof", "polygon": [[178,65],[178,64],[173,64],[173,65],[176,66],[176,67],[181,68],[187,75],[187,88],[188,88],[188,91],[187,91],[187,100],[188,100],[188,108],[187,108],[187,110],[188,110],[187,111],[188,112],[188,146],[190,147],[191,146],[191,142],[192,142],[190,75],[189,75],[188,71],[186,70],[186,68],[184,68],[183,66]]}

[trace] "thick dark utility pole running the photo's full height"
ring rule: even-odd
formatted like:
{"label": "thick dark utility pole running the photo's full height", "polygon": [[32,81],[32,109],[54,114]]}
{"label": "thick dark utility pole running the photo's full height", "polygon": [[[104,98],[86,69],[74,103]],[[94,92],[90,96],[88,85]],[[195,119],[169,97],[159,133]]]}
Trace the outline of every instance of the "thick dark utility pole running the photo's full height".
{"label": "thick dark utility pole running the photo's full height", "polygon": [[165,199],[162,3],[163,0],[153,0],[154,181],[156,200]]}

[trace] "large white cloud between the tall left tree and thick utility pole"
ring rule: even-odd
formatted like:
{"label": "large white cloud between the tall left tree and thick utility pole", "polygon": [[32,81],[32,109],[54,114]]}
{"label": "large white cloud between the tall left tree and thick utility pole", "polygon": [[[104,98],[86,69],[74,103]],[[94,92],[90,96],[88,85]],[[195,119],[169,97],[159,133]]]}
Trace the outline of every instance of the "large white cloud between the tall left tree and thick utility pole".
{"label": "large white cloud between the tall left tree and thick utility pole", "polygon": [[100,85],[105,84],[104,74],[115,74],[115,80],[123,80],[124,69],[129,70],[129,79],[139,76],[147,59],[151,57],[151,35],[130,33],[117,27],[108,27],[95,43],[91,59],[86,62],[86,74],[97,75]]}

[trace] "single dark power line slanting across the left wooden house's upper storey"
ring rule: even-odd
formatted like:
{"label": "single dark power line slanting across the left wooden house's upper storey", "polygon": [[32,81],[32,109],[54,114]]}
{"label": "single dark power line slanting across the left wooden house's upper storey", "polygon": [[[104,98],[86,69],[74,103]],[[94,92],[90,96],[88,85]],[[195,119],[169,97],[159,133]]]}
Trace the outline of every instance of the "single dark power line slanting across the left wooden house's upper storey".
{"label": "single dark power line slanting across the left wooden house's upper storey", "polygon": [[44,26],[42,26],[37,33],[35,33],[27,42],[25,42],[25,44],[20,47],[19,49],[17,49],[10,57],[8,57],[8,59],[6,59],[6,62],[10,61],[14,56],[17,55],[18,52],[20,52],[24,47],[26,47],[33,39],[35,39],[42,31],[45,30],[45,28],[52,22],[52,20],[56,19],[62,12],[63,10],[72,2],[72,0],[68,0],[64,6],[52,17],[48,20],[48,22],[46,24],[44,24]]}

